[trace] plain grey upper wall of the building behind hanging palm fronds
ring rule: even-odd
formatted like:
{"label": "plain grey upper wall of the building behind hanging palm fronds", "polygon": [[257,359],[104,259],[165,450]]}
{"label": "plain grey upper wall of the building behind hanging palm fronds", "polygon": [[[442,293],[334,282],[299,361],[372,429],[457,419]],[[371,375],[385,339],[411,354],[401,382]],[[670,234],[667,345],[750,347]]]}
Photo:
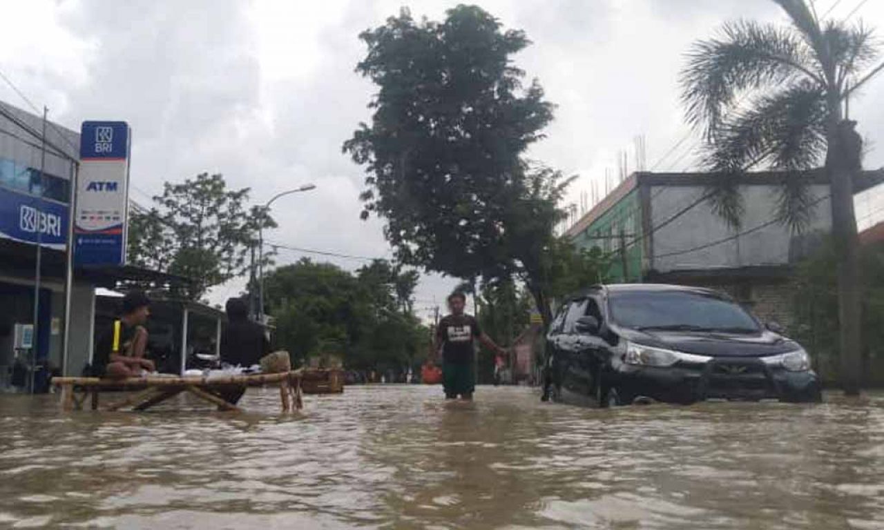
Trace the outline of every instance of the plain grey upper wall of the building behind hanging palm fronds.
{"label": "plain grey upper wall of the building behind hanging palm fronds", "polygon": [[[820,234],[831,227],[828,186],[811,186],[815,207],[812,224],[804,235],[792,234],[789,227],[770,224],[758,231],[740,235],[715,246],[683,252],[710,242],[728,239],[737,232],[751,231],[775,216],[778,186],[740,186],[745,213],[743,226],[735,231],[704,201],[690,208],[672,223],[652,235],[649,267],[658,272],[690,269],[724,269],[782,265],[798,261],[819,242]],[[652,186],[652,226],[687,208],[706,193],[705,186]]]}

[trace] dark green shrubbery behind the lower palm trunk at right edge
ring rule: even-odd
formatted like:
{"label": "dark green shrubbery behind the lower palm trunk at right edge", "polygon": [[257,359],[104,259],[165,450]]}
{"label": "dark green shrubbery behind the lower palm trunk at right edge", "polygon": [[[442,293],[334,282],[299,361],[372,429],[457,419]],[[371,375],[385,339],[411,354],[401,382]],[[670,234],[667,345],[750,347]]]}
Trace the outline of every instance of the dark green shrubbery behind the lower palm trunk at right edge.
{"label": "dark green shrubbery behind the lower palm trunk at right edge", "polygon": [[[865,374],[884,382],[884,246],[863,249],[863,344]],[[838,377],[837,255],[829,241],[813,259],[804,261],[796,274],[793,298],[795,338],[811,353],[814,366],[827,381]],[[874,365],[875,362],[879,364]],[[877,368],[877,369],[876,369]]]}

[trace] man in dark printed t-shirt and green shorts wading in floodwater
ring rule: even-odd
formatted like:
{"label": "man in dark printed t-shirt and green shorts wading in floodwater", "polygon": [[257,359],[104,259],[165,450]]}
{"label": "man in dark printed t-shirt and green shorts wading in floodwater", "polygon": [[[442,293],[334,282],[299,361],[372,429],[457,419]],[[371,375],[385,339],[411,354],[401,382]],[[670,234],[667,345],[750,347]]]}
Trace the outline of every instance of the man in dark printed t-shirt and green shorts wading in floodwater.
{"label": "man in dark printed t-shirt and green shorts wading in floodwater", "polygon": [[467,297],[462,292],[454,292],[448,296],[448,307],[451,314],[439,321],[436,329],[436,340],[433,344],[433,355],[442,350],[442,384],[445,387],[446,399],[473,398],[476,387],[473,375],[474,340],[477,338],[485,347],[506,355],[507,351],[485,335],[479,329],[476,319],[464,314]]}

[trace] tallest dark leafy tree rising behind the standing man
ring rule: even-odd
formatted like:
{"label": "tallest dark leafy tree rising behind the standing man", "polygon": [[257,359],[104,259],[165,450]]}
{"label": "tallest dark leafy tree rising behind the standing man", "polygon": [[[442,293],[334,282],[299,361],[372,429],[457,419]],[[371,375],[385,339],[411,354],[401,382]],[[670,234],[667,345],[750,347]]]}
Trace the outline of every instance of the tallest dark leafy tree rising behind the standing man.
{"label": "tallest dark leafy tree rising behind the standing man", "polygon": [[386,220],[397,261],[464,279],[524,280],[550,320],[543,253],[568,181],[524,159],[552,104],[511,56],[529,45],[476,6],[416,22],[408,10],[360,38],[379,87],[344,151],[366,166],[363,218]]}

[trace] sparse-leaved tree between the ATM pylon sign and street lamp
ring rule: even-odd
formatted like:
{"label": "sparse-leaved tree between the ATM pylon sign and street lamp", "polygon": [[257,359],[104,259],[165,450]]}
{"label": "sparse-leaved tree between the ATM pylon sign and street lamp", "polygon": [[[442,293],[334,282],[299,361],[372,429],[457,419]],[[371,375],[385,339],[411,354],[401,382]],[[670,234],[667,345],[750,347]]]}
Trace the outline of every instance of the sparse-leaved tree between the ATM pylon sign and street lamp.
{"label": "sparse-leaved tree between the ATM pylon sign and street lamp", "polygon": [[[202,173],[182,184],[164,184],[159,208],[133,212],[129,260],[194,281],[186,295],[200,299],[212,286],[248,271],[258,227],[276,223],[260,207],[248,209],[248,188],[228,190],[224,177]],[[265,260],[269,260],[265,256]]]}

